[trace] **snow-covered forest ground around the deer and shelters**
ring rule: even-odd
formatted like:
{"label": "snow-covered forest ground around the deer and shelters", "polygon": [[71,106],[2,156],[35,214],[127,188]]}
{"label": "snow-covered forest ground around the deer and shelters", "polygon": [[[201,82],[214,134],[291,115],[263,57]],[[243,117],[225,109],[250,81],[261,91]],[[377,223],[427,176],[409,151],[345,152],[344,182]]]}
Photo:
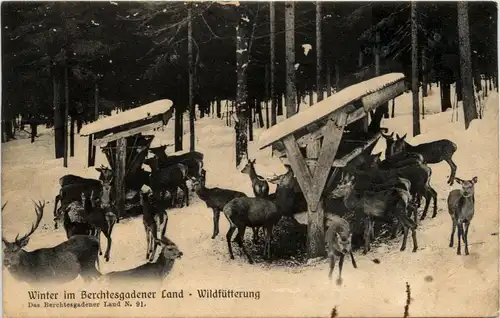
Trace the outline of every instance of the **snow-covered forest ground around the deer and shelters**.
{"label": "snow-covered forest ground around the deer and shelters", "polygon": [[[224,105],[224,103],[223,103]],[[460,105],[460,103],[459,103]],[[476,120],[464,131],[463,113],[451,122],[451,111],[440,113],[439,90],[432,88],[425,99],[426,116],[421,121],[422,134],[408,137],[410,143],[448,138],[458,150],[453,159],[458,165],[457,177],[478,176],[476,185],[476,214],[469,233],[469,256],[457,256],[449,248],[451,220],[447,213],[446,197],[452,189],[446,184],[450,170],[446,163],[432,165],[432,184],[438,191],[438,215],[423,221],[417,232],[419,250],[399,251],[399,241],[382,245],[367,256],[356,253],[358,269],[347,260],[342,286],[328,279],[326,261],[299,267],[282,267],[267,263],[248,264],[234,246],[235,260],[227,252],[225,233],[228,225],[220,220],[221,233],[211,240],[212,212],[192,196],[192,204],[169,211],[167,235],[184,253],[164,282],[167,290],[184,289],[185,299],[147,300],[146,307],[99,309],[32,309],[28,308],[25,283],[16,282],[3,270],[4,313],[7,316],[329,316],[337,307],[340,316],[402,316],[406,302],[405,283],[411,286],[410,315],[417,316],[493,316],[498,315],[498,95],[490,93],[483,120]],[[301,107],[305,109],[306,106]],[[283,120],[280,118],[280,120]],[[173,123],[155,132],[153,146],[173,143]],[[396,118],[384,120],[383,126],[400,135],[411,136],[411,94],[396,99]],[[187,123],[184,127],[188,127]],[[187,130],[187,129],[186,129]],[[257,159],[259,174],[282,173],[284,168],[269,148],[257,149],[262,129],[255,129],[255,141],[249,144],[251,158]],[[67,173],[97,177],[94,168],[86,168],[86,138],[76,138],[76,156],[70,158],[69,168],[62,159],[53,159],[53,132],[40,131],[34,144],[19,139],[2,145],[2,201],[8,204],[3,212],[2,230],[7,239],[29,229],[34,220],[33,200],[47,201],[41,226],[32,236],[27,250],[49,247],[63,242],[64,230],[54,231],[52,209],[58,190],[58,178]],[[206,117],[196,122],[197,150],[205,154],[208,187],[224,187],[251,195],[247,175],[235,168],[234,129],[225,121]],[[184,138],[189,148],[189,135]],[[381,140],[374,153],[382,151]],[[102,153],[96,166],[107,164]],[[457,187],[456,185],[455,187]],[[274,191],[274,189],[271,189]],[[247,232],[247,235],[250,231]],[[494,235],[496,234],[496,235]],[[104,246],[103,237],[102,244]],[[103,273],[124,270],[144,263],[145,234],[142,219],[124,220],[113,232],[111,260],[101,258]],[[371,260],[378,258],[380,264]],[[335,275],[337,270],[335,271]],[[125,287],[106,286],[94,282],[85,286],[76,281],[59,286],[70,291],[79,289],[108,289],[125,291],[128,288],[147,290],[131,284]],[[234,289],[260,291],[260,299],[199,299],[197,289]],[[50,290],[54,290],[51,288]],[[192,296],[189,296],[189,293]]]}

